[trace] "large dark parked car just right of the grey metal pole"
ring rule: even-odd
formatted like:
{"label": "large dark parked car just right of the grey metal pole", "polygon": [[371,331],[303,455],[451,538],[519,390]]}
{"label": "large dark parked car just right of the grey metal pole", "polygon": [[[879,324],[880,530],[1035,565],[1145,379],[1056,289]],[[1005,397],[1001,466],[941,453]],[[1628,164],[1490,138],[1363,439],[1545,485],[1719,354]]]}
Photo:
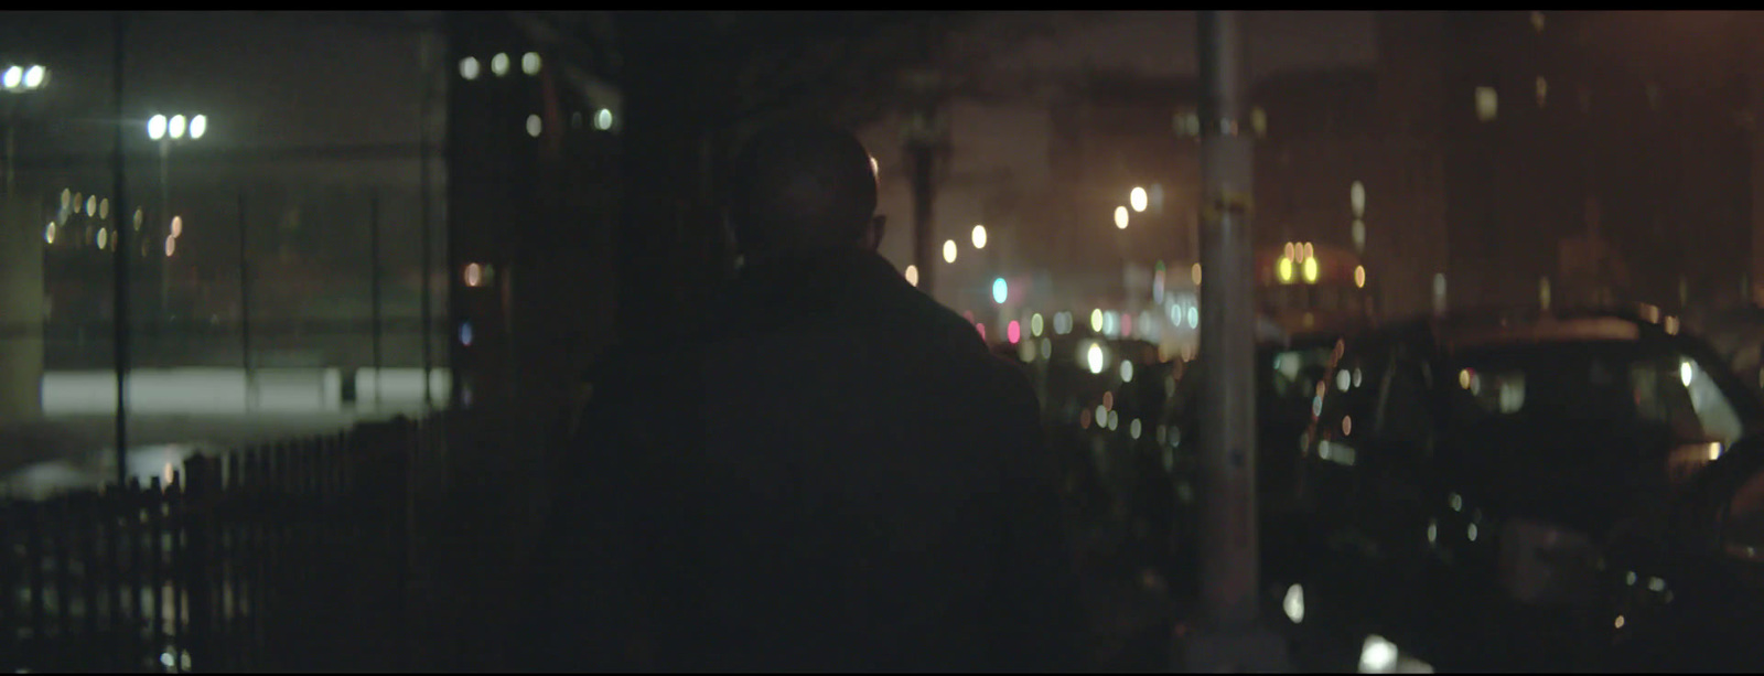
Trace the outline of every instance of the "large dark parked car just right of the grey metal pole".
{"label": "large dark parked car just right of the grey metal pole", "polygon": [[1663,584],[1632,579],[1630,544],[1667,538],[1679,489],[1760,427],[1708,344],[1635,316],[1349,339],[1305,436],[1307,614],[1438,669],[1602,664],[1633,584]]}

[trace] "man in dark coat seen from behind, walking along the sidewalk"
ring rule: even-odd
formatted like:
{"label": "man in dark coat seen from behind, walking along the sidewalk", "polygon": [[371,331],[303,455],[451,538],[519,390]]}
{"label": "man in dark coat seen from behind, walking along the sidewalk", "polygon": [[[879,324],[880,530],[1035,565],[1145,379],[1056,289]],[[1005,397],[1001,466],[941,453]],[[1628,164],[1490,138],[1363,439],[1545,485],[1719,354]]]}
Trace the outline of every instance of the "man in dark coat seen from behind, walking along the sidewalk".
{"label": "man in dark coat seen from behind, walking along the sidewalk", "polygon": [[875,252],[848,132],[734,166],[744,267],[594,385],[540,554],[542,669],[1067,671],[1085,623],[1035,395]]}

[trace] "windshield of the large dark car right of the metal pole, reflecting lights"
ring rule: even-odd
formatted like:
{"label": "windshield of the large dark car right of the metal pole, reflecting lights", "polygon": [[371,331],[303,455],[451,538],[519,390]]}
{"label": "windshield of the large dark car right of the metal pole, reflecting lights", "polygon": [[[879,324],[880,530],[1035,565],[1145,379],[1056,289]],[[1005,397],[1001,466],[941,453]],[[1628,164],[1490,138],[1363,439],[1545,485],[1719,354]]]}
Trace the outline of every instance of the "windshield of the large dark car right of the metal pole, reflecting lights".
{"label": "windshield of the large dark car right of the metal pole, reflecting lights", "polygon": [[[1459,351],[1446,383],[1461,429],[1644,424],[1678,443],[1732,443],[1745,420],[1695,358],[1641,341],[1572,341]],[[1455,387],[1454,387],[1455,385]]]}

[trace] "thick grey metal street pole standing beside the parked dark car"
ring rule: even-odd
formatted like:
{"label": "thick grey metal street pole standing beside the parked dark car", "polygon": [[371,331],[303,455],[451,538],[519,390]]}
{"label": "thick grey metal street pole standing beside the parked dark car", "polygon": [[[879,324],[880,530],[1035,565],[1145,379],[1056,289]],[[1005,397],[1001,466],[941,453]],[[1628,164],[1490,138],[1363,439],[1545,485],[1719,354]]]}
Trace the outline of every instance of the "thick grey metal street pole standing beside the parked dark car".
{"label": "thick grey metal street pole standing beside the parked dark car", "polygon": [[1256,522],[1256,309],[1251,268],[1251,138],[1242,132],[1242,14],[1200,16],[1203,231],[1201,627],[1184,671],[1291,671],[1286,639],[1259,618]]}

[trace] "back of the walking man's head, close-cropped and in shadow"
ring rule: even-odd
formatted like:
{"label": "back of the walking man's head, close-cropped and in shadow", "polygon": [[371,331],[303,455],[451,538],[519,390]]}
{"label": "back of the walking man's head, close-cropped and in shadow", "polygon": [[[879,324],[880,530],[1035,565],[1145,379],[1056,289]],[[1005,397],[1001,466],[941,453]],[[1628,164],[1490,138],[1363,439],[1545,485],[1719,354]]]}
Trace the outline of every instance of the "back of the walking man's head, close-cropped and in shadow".
{"label": "back of the walking man's head, close-cropped and in shadow", "polygon": [[774,125],[734,162],[730,219],[746,256],[864,244],[877,208],[870,152],[857,136],[824,125]]}

